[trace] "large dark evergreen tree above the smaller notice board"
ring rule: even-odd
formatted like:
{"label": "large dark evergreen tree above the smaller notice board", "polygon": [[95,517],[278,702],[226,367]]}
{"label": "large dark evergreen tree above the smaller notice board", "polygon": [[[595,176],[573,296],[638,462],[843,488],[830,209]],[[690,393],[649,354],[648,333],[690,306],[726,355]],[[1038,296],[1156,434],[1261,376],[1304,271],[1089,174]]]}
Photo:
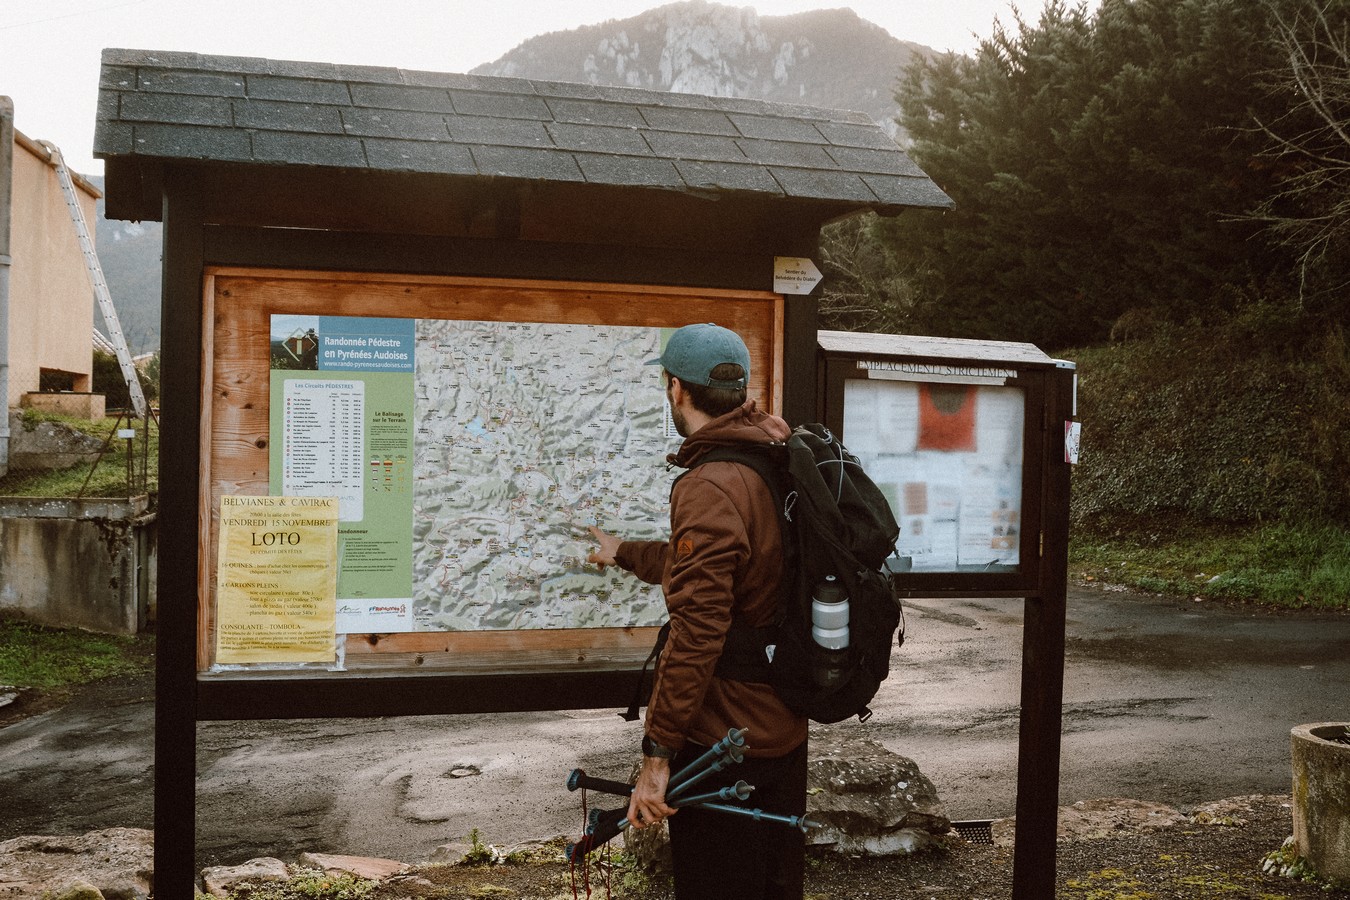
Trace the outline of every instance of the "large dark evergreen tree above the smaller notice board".
{"label": "large dark evergreen tree above the smaller notice board", "polygon": [[[953,212],[878,225],[914,287],[909,329],[1106,339],[1187,321],[1284,271],[1246,216],[1270,192],[1254,116],[1269,9],[1233,0],[1052,0],[973,57],[918,61],[898,100]],[[1284,263],[1287,266],[1287,263]]]}

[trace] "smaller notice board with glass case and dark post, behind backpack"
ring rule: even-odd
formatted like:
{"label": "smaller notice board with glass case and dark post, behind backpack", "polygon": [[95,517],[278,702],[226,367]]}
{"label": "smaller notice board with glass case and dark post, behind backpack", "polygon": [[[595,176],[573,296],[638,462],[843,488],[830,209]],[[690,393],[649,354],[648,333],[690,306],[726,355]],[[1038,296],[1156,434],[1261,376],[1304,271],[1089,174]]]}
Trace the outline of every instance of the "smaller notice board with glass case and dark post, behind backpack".
{"label": "smaller notice board with glass case and dark post, behind backpack", "polygon": [[1054,896],[1073,363],[1030,344],[821,332],[821,413],[887,494],[906,596],[1025,602],[1014,897]]}

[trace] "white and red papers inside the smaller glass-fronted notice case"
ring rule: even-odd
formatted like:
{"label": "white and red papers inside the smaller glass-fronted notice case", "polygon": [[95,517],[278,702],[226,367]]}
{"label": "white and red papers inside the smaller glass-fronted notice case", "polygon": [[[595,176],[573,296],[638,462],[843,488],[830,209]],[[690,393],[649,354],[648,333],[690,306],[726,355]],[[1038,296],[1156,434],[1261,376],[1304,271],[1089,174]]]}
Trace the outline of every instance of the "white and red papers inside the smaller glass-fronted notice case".
{"label": "white and red papers inside the smaller glass-fronted notice case", "polygon": [[1000,385],[845,382],[844,443],[900,525],[892,571],[1017,571],[1025,406]]}

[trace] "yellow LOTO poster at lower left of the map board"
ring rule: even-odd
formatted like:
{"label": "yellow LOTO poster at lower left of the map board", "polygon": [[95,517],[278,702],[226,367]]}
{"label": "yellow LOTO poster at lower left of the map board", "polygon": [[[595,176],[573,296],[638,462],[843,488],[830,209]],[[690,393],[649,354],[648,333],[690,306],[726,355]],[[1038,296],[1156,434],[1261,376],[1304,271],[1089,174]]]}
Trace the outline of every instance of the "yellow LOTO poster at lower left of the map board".
{"label": "yellow LOTO poster at lower left of the map board", "polygon": [[216,663],[332,663],[336,497],[221,497]]}

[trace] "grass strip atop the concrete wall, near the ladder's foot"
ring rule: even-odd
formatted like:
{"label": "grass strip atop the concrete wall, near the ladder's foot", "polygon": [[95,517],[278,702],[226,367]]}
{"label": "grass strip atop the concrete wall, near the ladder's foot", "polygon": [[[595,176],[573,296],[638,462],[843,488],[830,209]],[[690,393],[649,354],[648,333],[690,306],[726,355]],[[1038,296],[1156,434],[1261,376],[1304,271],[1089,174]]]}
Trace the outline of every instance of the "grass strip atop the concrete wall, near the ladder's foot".
{"label": "grass strip atop the concrete wall, near the ladder's foot", "polygon": [[[11,468],[0,478],[4,497],[135,497],[159,490],[159,425],[138,420],[74,418],[59,413],[27,409],[22,428],[34,429],[54,424],[94,437],[100,445],[107,441],[107,452],[93,463],[78,463],[69,468]],[[131,447],[131,475],[128,483],[127,441],[116,437],[117,428],[135,428]],[[108,437],[113,436],[112,440]],[[92,470],[92,474],[90,474]]]}

